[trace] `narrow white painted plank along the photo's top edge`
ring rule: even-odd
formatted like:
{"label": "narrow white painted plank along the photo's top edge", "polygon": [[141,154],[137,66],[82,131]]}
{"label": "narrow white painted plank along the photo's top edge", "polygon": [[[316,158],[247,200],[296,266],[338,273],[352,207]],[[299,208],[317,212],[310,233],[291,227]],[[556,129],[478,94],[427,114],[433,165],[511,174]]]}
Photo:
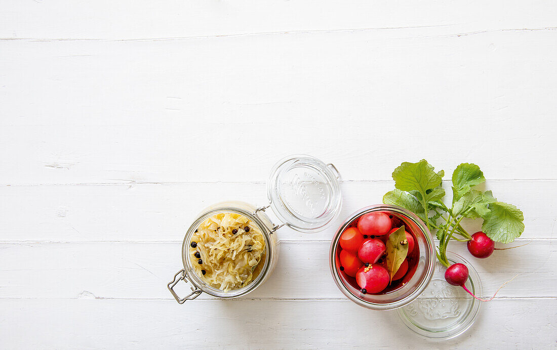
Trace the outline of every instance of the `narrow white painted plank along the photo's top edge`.
{"label": "narrow white painted plank along the photo's top edge", "polygon": [[[481,12],[478,12],[481,8]],[[0,37],[130,40],[434,26],[450,33],[555,27],[551,1],[342,3],[255,0],[2,2]],[[504,10],[502,10],[504,9]]]}

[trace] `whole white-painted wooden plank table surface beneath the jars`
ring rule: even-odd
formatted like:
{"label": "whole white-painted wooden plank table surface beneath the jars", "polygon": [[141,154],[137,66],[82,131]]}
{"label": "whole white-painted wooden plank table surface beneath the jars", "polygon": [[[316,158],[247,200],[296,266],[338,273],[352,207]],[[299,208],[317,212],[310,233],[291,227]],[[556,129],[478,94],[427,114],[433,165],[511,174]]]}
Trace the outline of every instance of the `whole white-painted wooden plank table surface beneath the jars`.
{"label": "whole white-painted wooden plank table surface beneath the jars", "polygon": [[[0,348],[556,347],[557,2],[2,0],[0,38]],[[177,304],[192,219],[295,153],[340,219],[402,161],[475,162],[531,244],[471,259],[519,277],[431,342],[336,288],[337,224],[282,228],[261,288]]]}

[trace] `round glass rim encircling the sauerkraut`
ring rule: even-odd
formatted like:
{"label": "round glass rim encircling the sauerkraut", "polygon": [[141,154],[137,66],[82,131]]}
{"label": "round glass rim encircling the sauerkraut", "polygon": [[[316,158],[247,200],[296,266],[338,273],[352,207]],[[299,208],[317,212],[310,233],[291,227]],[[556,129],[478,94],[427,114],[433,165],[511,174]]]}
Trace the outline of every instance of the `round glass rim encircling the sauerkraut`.
{"label": "round glass rim encircling the sauerkraut", "polygon": [[[246,204],[248,206],[251,206],[250,204],[244,202],[236,202],[236,203],[241,203],[241,204]],[[254,280],[252,280],[248,285],[242,288],[224,291],[222,289],[212,287],[211,285],[204,282],[197,275],[197,273],[193,269],[192,262],[190,261],[190,259],[187,258],[188,243],[190,238],[194,234],[195,230],[197,229],[197,227],[201,223],[203,223],[204,220],[209,218],[209,216],[219,214],[219,213],[237,213],[246,216],[248,219],[252,220],[253,223],[257,225],[257,228],[260,229],[261,233],[263,234],[263,239],[265,239],[265,244],[266,244],[265,249],[267,250],[267,254],[265,254],[265,263],[263,265],[263,268],[261,269],[261,272],[257,275],[257,277]],[[257,288],[258,285],[260,285],[263,280],[265,280],[265,276],[268,273],[269,268],[271,267],[271,259],[273,254],[272,251],[273,243],[270,237],[271,234],[272,234],[271,230],[270,228],[268,228],[265,222],[263,222],[263,220],[256,213],[251,213],[248,210],[238,208],[236,206],[218,206],[216,208],[206,210],[203,212],[203,214],[199,215],[199,217],[192,223],[191,226],[189,226],[189,229],[184,236],[184,241],[182,243],[182,262],[184,264],[184,272],[188,277],[188,280],[195,287],[200,289],[203,293],[207,293],[209,295],[212,295],[213,297],[236,298],[236,297],[240,297],[241,295],[250,293],[252,292],[252,290]]]}

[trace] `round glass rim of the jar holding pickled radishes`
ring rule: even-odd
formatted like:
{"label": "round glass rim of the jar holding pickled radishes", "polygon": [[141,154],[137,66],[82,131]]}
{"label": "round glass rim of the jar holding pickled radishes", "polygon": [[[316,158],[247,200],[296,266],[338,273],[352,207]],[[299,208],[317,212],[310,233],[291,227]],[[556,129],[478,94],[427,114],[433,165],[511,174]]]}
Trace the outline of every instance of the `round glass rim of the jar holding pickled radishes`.
{"label": "round glass rim of the jar holding pickled radishes", "polygon": [[[348,227],[348,225],[355,218],[358,218],[359,216],[367,214],[367,213],[371,213],[372,211],[381,211],[381,210],[391,211],[391,212],[394,212],[394,213],[397,213],[397,214],[402,214],[402,215],[406,216],[408,219],[412,220],[412,222],[418,226],[418,229],[422,231],[422,233],[424,235],[424,238],[427,242],[426,247],[428,249],[428,252],[427,252],[428,254],[427,255],[429,257],[429,260],[426,262],[427,266],[425,267],[425,273],[423,275],[423,278],[419,281],[416,288],[414,288],[412,290],[412,292],[405,295],[403,298],[400,298],[398,300],[394,300],[393,302],[374,303],[374,302],[371,302],[369,300],[364,300],[364,299],[358,297],[358,295],[355,295],[354,293],[352,293],[350,291],[350,289],[348,287],[346,287],[346,285],[343,283],[343,280],[341,279],[341,276],[339,274],[339,269],[338,269],[337,264],[336,264],[335,255],[336,255],[336,252],[337,252],[338,247],[339,247],[339,240],[340,240],[341,233]],[[353,302],[355,302],[356,304],[358,304],[360,306],[363,306],[363,307],[366,307],[366,308],[369,308],[369,309],[392,310],[392,309],[397,309],[397,308],[403,307],[404,305],[407,305],[408,303],[412,302],[414,299],[418,298],[419,295],[421,295],[423,293],[423,291],[427,288],[429,282],[431,281],[431,278],[433,277],[433,272],[434,272],[434,269],[435,269],[435,265],[436,265],[436,253],[435,253],[435,246],[434,246],[434,242],[433,242],[433,236],[432,236],[431,232],[428,230],[427,226],[423,223],[423,221],[421,219],[419,219],[418,216],[416,216],[416,214],[414,214],[411,211],[409,211],[407,209],[404,209],[400,206],[397,206],[397,205],[377,204],[377,205],[367,206],[367,207],[362,208],[358,211],[355,211],[353,214],[351,214],[343,222],[343,224],[340,225],[339,229],[336,231],[336,234],[335,234],[333,240],[331,241],[329,267],[330,267],[331,274],[333,275],[333,279],[335,280],[335,283],[336,283],[337,287],[350,300],[352,300]],[[388,294],[384,294],[384,295],[388,295]]]}

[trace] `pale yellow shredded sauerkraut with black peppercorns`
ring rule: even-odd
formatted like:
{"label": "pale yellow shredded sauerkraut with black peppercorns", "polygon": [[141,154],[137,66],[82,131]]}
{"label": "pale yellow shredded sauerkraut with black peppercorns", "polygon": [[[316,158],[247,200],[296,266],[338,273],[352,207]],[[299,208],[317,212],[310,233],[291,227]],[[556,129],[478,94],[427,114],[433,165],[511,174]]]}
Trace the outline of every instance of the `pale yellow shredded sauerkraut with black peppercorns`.
{"label": "pale yellow shredded sauerkraut with black peppercorns", "polygon": [[216,214],[203,221],[188,247],[197,275],[221,290],[249,284],[261,272],[266,254],[261,230],[236,213]]}

